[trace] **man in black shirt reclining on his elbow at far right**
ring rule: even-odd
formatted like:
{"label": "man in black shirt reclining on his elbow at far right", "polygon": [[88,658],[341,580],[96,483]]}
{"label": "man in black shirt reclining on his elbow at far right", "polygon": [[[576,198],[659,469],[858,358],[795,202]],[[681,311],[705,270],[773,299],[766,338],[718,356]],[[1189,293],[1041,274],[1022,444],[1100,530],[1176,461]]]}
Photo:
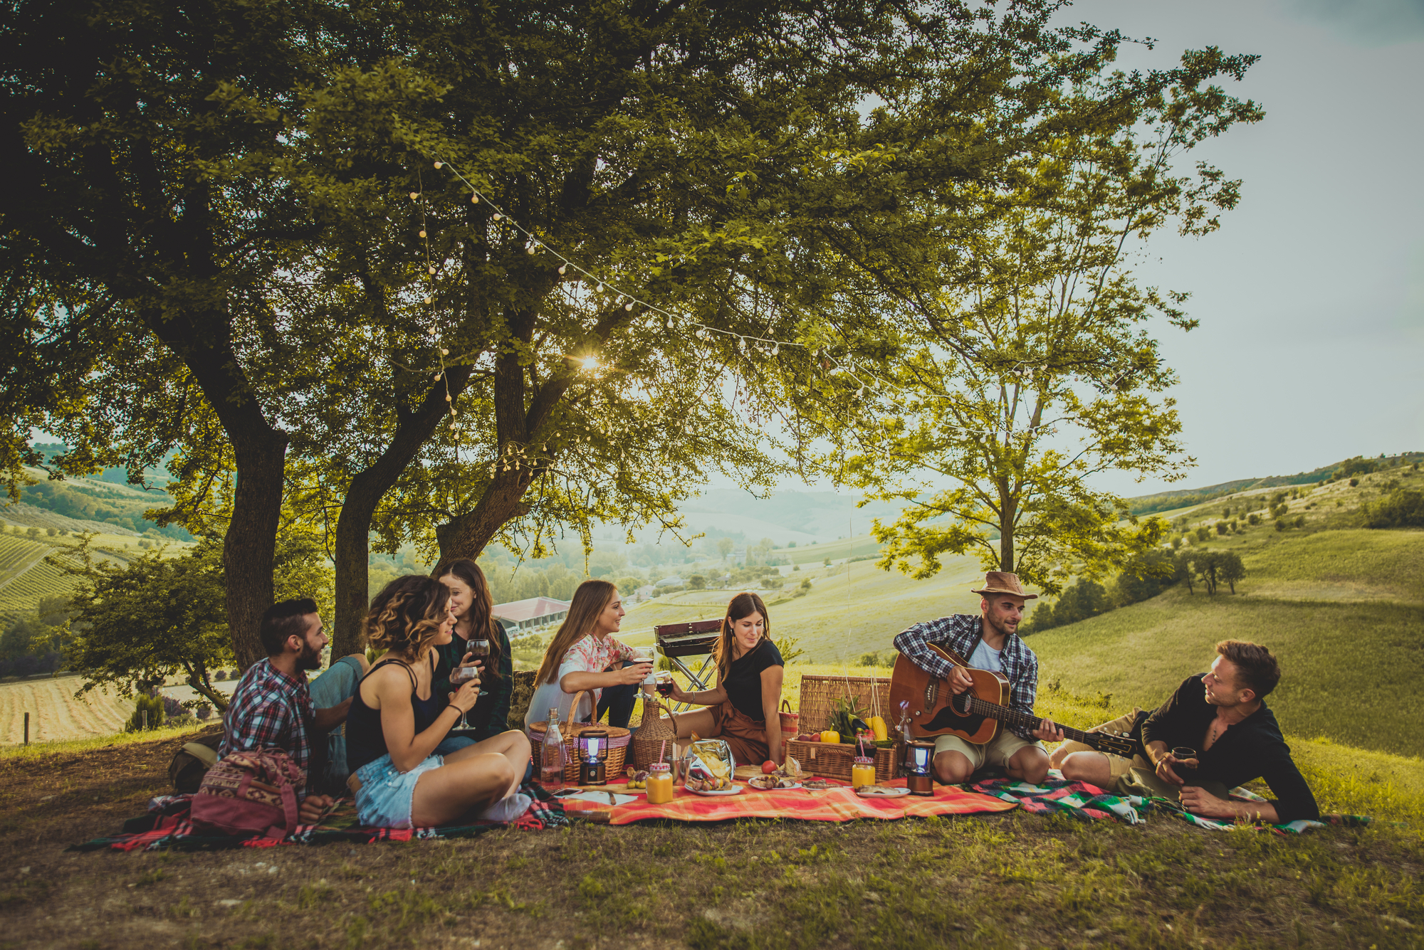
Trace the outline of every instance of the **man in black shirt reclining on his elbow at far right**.
{"label": "man in black shirt reclining on his elbow at far right", "polygon": [[[1210,671],[1189,676],[1155,712],[1134,710],[1094,727],[1129,734],[1141,730],[1143,754],[1126,759],[1068,741],[1054,751],[1052,762],[1064,778],[1180,798],[1183,808],[1206,818],[1272,825],[1320,818],[1314,795],[1265,703],[1279,681],[1280,664],[1270,650],[1222,640]],[[1274,802],[1226,798],[1226,789],[1255,778],[1270,785]]]}

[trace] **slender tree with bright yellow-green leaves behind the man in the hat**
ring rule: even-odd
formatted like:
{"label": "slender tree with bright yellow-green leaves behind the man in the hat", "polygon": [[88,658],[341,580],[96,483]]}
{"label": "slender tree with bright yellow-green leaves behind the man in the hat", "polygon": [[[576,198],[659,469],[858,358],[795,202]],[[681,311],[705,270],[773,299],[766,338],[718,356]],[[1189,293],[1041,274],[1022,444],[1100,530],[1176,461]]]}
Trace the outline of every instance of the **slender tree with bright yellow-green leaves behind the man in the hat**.
{"label": "slender tree with bright yellow-green leaves behind the man in the hat", "polygon": [[[1239,78],[1247,64],[1213,58],[1210,70]],[[941,555],[977,550],[985,567],[1054,593],[1159,543],[1165,522],[1136,522],[1088,482],[1104,471],[1175,479],[1190,464],[1173,400],[1158,395],[1175,375],[1143,324],[1196,321],[1186,294],[1139,287],[1125,253],[1173,220],[1208,233],[1236,203],[1239,182],[1209,165],[1173,174],[1205,138],[1260,118],[1203,78],[1143,100],[1126,125],[1045,146],[1020,168],[1012,210],[944,249],[943,289],[899,307],[883,378],[857,377],[889,384],[864,402],[860,452],[843,468],[826,458],[871,495],[909,502],[876,522],[881,567],[926,577]]]}

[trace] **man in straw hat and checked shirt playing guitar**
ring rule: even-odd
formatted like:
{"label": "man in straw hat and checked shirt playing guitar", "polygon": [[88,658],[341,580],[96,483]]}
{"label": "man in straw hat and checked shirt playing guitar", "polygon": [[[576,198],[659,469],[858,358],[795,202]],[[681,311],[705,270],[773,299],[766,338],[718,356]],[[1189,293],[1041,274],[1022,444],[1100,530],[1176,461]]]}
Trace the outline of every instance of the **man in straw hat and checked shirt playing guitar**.
{"label": "man in straw hat and checked shirt playing guitar", "polygon": [[[977,670],[1001,673],[1010,684],[1010,707],[1035,715],[1038,657],[1018,636],[1018,624],[1024,619],[1024,603],[1038,594],[1027,593],[1018,575],[1004,570],[988,572],[984,585],[971,590],[983,597],[978,617],[960,613],[917,623],[894,639],[896,650],[948,683],[956,694],[968,690],[974,681],[964,667],[931,650],[931,643],[965,657]],[[958,785],[977,769],[997,765],[1010,776],[1037,785],[1048,776],[1044,742],[1062,740],[1064,734],[1052,720],[1044,720],[1037,730],[1005,725],[983,745],[957,735],[940,735],[934,740],[934,776],[946,785]]]}

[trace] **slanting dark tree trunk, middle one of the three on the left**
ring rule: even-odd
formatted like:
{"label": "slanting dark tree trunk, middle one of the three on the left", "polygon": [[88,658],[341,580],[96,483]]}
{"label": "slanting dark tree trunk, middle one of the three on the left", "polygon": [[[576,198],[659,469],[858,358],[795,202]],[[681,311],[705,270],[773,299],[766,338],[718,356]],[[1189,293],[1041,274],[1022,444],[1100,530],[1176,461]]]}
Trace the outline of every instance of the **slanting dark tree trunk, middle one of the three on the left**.
{"label": "slanting dark tree trunk, middle one of the three on the left", "polygon": [[[456,400],[470,378],[470,367],[449,370],[450,395]],[[386,451],[352,478],[336,521],[336,636],[332,656],[343,657],[365,647],[365,619],[370,586],[370,519],[386,492],[420,452],[446,417],[446,390],[433,387],[414,412],[399,412],[396,434]]]}

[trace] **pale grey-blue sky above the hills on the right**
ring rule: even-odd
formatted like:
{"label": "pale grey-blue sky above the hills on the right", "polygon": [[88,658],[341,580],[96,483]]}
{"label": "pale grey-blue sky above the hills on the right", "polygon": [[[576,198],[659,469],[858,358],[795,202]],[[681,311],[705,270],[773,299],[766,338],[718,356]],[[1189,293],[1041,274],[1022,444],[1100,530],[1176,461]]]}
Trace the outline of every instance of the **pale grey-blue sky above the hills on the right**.
{"label": "pale grey-blue sky above the hills on the right", "polygon": [[1188,154],[1242,179],[1222,229],[1155,236],[1136,266],[1143,286],[1190,292],[1200,320],[1158,329],[1196,466],[1095,486],[1142,495],[1424,449],[1424,0],[1085,0],[1061,20],[1156,40],[1125,47],[1122,68],[1208,46],[1259,54],[1226,91],[1266,111]]}

